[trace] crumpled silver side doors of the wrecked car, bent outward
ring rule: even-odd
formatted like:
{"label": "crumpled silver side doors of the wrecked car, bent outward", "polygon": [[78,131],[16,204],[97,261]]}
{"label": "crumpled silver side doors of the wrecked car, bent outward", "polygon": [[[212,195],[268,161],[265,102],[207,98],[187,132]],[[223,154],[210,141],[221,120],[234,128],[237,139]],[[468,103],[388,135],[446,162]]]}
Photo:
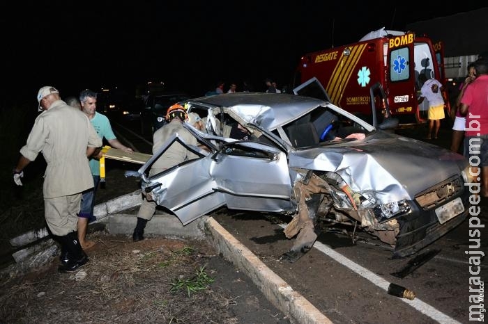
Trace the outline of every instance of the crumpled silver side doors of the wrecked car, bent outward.
{"label": "crumpled silver side doors of the wrecked car, bent outward", "polygon": [[[195,131],[192,133],[197,136]],[[148,198],[172,211],[183,225],[226,204],[231,209],[272,212],[294,208],[287,156],[263,143],[226,143],[220,149],[213,147],[215,153],[200,154],[199,159],[146,177],[146,169],[176,140],[187,149],[198,151],[175,134],[139,169],[139,175]],[[240,170],[253,170],[252,176]]]}

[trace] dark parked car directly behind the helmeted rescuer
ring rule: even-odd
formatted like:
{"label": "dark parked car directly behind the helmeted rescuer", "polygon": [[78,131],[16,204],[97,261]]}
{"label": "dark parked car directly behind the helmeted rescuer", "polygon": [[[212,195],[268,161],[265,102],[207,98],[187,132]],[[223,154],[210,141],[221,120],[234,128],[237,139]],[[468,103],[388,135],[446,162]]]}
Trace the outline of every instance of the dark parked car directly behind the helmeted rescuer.
{"label": "dark parked car directly behind the helmeted rescuer", "polygon": [[154,133],[166,124],[166,112],[169,106],[190,99],[184,92],[168,92],[160,95],[149,95],[142,114],[142,131]]}

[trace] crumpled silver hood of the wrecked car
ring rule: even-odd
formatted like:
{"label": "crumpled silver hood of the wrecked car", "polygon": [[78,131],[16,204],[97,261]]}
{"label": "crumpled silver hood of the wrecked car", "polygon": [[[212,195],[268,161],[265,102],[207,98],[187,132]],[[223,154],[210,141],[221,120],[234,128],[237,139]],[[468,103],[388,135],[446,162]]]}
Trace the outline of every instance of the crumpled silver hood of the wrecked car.
{"label": "crumpled silver hood of the wrecked car", "polygon": [[383,203],[415,195],[464,170],[464,156],[442,147],[374,131],[365,140],[291,152],[292,168],[337,172],[351,189],[374,191]]}

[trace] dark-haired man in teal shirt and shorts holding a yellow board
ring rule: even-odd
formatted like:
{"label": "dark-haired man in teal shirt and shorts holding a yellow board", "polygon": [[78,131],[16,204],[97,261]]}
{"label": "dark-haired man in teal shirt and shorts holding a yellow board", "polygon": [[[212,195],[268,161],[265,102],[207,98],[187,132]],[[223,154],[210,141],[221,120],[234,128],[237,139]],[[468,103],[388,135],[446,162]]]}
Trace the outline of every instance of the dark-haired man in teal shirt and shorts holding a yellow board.
{"label": "dark-haired man in teal shirt and shorts holding a yellow board", "polygon": [[[109,145],[116,149],[123,149],[125,152],[134,152],[130,147],[126,147],[117,140],[107,116],[96,112],[96,92],[89,89],[83,90],[79,93],[79,102],[82,104],[82,111],[88,116],[93,128],[102,140],[105,138]],[[78,240],[83,249],[91,248],[95,244],[93,241],[85,241],[85,237],[89,220],[96,219],[93,216],[93,208],[95,207],[95,194],[100,183],[100,157],[102,157],[102,154],[98,150],[90,158],[89,164],[94,187],[83,192],[81,210],[78,214]]]}

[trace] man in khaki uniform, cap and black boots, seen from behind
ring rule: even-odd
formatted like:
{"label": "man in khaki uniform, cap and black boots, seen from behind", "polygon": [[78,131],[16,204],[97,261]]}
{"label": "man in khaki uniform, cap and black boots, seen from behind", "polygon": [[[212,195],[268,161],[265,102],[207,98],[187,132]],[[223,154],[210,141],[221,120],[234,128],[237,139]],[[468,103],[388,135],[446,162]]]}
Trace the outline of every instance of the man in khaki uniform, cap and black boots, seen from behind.
{"label": "man in khaki uniform, cap and black boots, seen from behind", "polygon": [[43,195],[47,226],[61,244],[59,272],[74,271],[86,264],[88,257],[77,238],[77,213],[82,191],[93,187],[87,156],[102,146],[102,140],[86,115],[61,100],[52,86],[38,92],[38,115],[20,149],[20,159],[13,169],[15,184],[22,186],[22,170],[39,152],[47,163]]}

